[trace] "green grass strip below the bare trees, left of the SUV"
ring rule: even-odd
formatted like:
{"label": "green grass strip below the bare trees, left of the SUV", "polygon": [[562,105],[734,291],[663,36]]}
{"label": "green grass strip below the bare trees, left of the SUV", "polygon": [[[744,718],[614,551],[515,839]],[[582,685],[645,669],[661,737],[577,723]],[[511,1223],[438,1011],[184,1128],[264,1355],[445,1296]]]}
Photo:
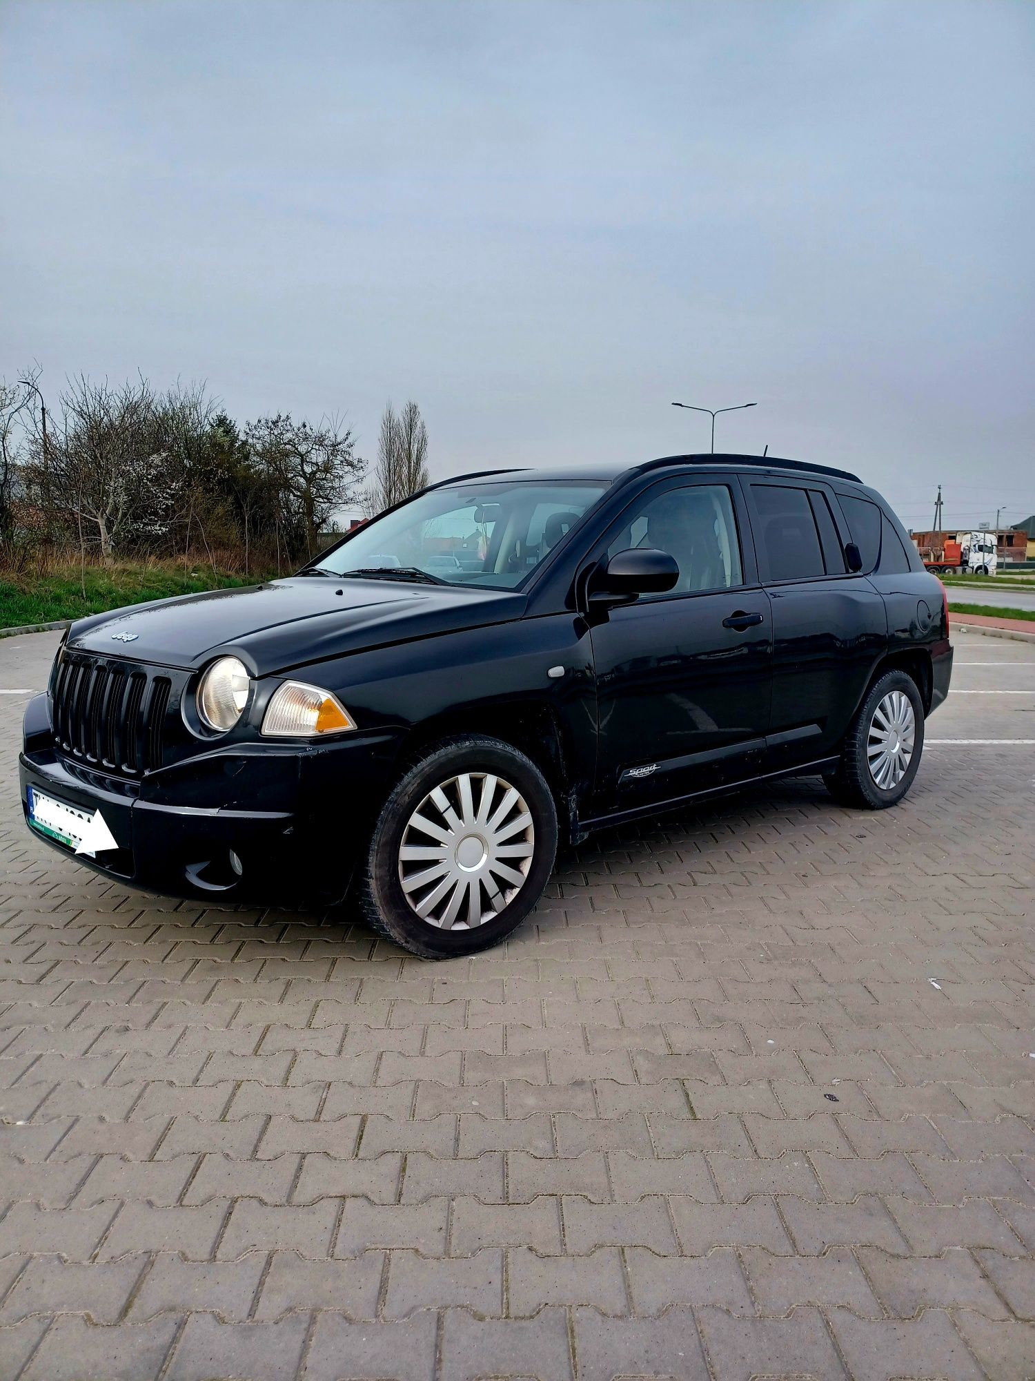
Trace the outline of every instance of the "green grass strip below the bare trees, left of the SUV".
{"label": "green grass strip below the bare trees, left of the SUV", "polygon": [[79,566],[59,566],[44,574],[0,576],[0,628],[21,628],[32,623],[81,619],[123,605],[166,599],[170,595],[200,594],[254,584],[240,576],[213,574],[211,570],[184,570],[168,565],[87,566],[86,598]]}

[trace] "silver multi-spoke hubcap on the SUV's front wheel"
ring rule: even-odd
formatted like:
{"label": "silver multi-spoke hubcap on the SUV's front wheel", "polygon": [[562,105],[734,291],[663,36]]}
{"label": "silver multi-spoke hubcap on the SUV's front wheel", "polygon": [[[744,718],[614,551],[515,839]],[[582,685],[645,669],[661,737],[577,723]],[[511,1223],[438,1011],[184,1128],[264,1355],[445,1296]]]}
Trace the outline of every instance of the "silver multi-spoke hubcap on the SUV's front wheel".
{"label": "silver multi-spoke hubcap on the SUV's front wheel", "polygon": [[468,931],[512,902],[535,851],[531,812],[490,772],[450,778],[421,801],[399,847],[399,881],[413,910],[444,931]]}

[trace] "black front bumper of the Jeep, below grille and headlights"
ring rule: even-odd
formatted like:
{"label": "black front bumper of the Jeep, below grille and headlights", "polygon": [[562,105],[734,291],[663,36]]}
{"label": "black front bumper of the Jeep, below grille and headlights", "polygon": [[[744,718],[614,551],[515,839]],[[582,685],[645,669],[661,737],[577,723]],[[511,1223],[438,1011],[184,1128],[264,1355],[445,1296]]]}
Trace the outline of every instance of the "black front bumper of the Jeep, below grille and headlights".
{"label": "black front bumper of the Jeep, below grille and headlights", "polygon": [[[55,753],[40,696],[26,708],[22,811],[34,837],[59,853],[146,891],[331,906],[344,899],[366,848],[393,754],[391,735],[290,749],[241,744],[126,782]],[[75,855],[30,826],[30,786],[77,809],[99,809],[117,849]]]}

